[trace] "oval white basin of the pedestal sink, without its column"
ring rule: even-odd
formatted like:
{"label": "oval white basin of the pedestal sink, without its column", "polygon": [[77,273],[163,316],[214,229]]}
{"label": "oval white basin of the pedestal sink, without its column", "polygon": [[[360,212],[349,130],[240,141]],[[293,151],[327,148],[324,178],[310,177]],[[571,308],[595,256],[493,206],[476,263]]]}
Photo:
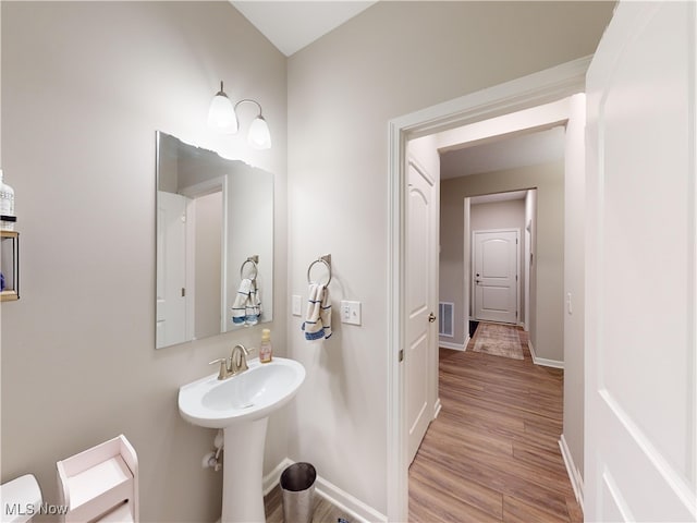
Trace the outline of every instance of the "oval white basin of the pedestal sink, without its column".
{"label": "oval white basin of the pedestal sink, without its column", "polygon": [[225,428],[268,416],[285,405],[305,379],[305,368],[294,360],[274,357],[269,363],[248,362],[249,369],[220,380],[213,374],[179,390],[179,412],[194,425]]}

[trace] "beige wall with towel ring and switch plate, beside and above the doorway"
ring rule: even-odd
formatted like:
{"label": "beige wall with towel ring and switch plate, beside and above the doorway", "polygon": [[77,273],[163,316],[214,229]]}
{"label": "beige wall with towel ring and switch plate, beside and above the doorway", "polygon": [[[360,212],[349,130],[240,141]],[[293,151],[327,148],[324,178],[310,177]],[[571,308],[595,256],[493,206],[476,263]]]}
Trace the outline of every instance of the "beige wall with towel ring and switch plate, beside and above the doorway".
{"label": "beige wall with towel ring and switch plate, beside and above the doorway", "polygon": [[[378,511],[387,511],[390,445],[388,122],[590,54],[611,11],[603,2],[378,2],[289,60],[289,294],[307,296],[308,264],[331,253],[334,305],[363,303],[363,325],[339,325],[323,346],[305,343],[302,318],[290,323],[290,354],[308,384],[291,458]],[[540,212],[562,205],[563,194]],[[553,278],[561,289],[561,269]],[[561,308],[558,294],[546,303]],[[561,360],[561,341],[539,341]]]}

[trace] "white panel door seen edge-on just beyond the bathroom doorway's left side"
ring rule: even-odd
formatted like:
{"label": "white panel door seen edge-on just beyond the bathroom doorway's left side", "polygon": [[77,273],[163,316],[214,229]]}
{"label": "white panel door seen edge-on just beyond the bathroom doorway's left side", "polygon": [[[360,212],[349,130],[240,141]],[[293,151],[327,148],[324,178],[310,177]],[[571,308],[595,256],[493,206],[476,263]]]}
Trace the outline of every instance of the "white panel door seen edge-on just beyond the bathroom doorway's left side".
{"label": "white panel door seen edge-on just beyond the bathroom doorway's left side", "polygon": [[436,182],[423,168],[409,161],[407,200],[406,309],[407,345],[405,354],[408,462],[433,416],[432,388],[436,346],[436,302],[438,263],[438,216]]}

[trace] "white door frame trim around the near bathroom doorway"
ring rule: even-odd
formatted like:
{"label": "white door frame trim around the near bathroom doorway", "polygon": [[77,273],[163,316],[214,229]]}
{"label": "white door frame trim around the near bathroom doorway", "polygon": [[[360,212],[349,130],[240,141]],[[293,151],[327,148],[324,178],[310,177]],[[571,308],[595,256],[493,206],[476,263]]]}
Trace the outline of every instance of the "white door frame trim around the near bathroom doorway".
{"label": "white door frame trim around the near bathroom doorway", "polygon": [[[407,141],[453,130],[502,114],[559,101],[585,89],[591,57],[547,69],[454,100],[416,111],[388,123],[388,419],[387,509],[388,521],[408,520],[408,465],[405,413],[405,376],[400,362],[406,337],[405,245],[407,197]],[[565,118],[557,123],[568,120]],[[546,124],[549,124],[547,122]],[[539,125],[519,122],[518,131]],[[515,123],[511,122],[511,132]]]}

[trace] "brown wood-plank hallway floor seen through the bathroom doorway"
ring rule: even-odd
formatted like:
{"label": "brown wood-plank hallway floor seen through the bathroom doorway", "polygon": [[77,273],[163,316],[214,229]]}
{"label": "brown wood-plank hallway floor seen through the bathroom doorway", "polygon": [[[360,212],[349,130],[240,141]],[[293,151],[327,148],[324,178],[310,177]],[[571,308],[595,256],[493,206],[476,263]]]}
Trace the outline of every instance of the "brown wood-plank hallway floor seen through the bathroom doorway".
{"label": "brown wood-plank hallway floor seen through the bathroom doorway", "polygon": [[409,521],[582,522],[559,450],[563,372],[440,350],[441,412],[409,469]]}

